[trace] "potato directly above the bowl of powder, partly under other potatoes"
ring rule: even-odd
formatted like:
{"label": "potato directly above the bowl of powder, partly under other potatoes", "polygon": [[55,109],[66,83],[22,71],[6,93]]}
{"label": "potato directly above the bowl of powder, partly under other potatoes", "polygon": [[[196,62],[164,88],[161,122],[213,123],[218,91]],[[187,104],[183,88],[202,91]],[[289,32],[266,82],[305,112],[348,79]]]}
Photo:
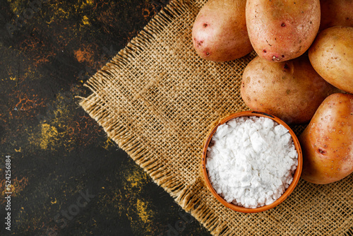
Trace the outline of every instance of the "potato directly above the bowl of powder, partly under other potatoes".
{"label": "potato directly above the bowl of powder, partly under other potatoes", "polygon": [[251,110],[273,114],[287,124],[309,122],[335,91],[316,73],[306,54],[279,63],[256,57],[241,79],[241,98]]}

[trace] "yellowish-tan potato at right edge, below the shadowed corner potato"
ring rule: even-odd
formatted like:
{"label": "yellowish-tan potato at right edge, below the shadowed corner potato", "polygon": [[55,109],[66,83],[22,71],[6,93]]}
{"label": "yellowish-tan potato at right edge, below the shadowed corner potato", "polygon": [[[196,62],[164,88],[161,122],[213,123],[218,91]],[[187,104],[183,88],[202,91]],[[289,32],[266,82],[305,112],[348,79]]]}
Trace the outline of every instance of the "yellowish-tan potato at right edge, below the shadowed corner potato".
{"label": "yellowish-tan potato at right edge, below the shadowed corner potato", "polygon": [[353,93],[353,28],[334,26],[318,34],[309,49],[313,68],[328,83]]}

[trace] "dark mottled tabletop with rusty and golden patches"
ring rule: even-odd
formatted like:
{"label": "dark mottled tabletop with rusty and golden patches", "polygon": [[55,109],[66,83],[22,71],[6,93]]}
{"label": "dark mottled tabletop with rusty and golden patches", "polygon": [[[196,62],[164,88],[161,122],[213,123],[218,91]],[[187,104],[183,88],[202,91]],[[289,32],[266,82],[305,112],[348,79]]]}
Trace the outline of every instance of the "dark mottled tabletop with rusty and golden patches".
{"label": "dark mottled tabletop with rusty and golden patches", "polygon": [[76,98],[167,3],[0,1],[0,235],[209,235]]}

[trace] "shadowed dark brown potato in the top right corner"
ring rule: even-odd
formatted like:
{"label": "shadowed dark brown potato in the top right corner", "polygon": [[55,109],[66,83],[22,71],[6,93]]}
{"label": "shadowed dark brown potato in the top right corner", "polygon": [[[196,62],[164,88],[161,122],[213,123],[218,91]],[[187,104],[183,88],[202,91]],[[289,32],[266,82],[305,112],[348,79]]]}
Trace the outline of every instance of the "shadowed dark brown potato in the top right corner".
{"label": "shadowed dark brown potato in the top right corner", "polygon": [[321,0],[319,31],[341,25],[353,27],[353,0]]}

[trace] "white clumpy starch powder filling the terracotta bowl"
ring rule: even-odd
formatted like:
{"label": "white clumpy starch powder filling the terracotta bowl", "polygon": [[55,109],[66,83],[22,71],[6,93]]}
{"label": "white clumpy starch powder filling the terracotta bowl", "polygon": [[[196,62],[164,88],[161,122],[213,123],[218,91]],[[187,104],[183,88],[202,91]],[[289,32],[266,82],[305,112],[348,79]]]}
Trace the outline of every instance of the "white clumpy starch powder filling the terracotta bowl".
{"label": "white clumpy starch powder filling the terracotta bowl", "polygon": [[288,129],[267,117],[237,117],[218,126],[207,151],[206,168],[217,194],[246,208],[279,199],[297,165]]}

